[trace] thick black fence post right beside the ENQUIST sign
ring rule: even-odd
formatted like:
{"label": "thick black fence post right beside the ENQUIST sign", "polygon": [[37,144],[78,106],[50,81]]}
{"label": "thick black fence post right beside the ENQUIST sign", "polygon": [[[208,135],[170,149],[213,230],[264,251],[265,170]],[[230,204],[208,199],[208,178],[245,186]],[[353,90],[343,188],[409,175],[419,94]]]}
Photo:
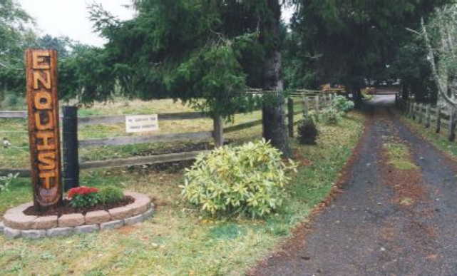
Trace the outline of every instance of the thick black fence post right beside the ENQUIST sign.
{"label": "thick black fence post right beside the ENQUIST sign", "polygon": [[63,183],[64,190],[79,186],[78,108],[63,106]]}

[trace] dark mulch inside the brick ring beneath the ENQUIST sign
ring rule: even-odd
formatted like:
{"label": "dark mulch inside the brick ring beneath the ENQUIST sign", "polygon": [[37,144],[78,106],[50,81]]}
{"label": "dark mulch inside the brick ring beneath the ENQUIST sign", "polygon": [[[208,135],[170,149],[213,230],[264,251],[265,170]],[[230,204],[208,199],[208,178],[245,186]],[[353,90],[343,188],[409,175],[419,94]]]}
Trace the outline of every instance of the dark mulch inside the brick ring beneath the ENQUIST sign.
{"label": "dark mulch inside the brick ring beneath the ENQUIST sign", "polygon": [[124,198],[117,203],[109,203],[109,204],[98,204],[95,205],[91,208],[73,208],[70,205],[70,200],[63,200],[63,204],[60,206],[48,208],[48,210],[45,210],[43,212],[38,212],[34,206],[31,206],[24,210],[25,215],[36,215],[38,217],[46,217],[50,215],[57,215],[60,217],[61,215],[69,215],[69,214],[83,214],[86,215],[88,212],[92,211],[100,211],[100,210],[105,210],[108,211],[113,208],[118,208],[118,207],[123,207],[125,205],[129,205],[130,203],[134,203],[135,198],[132,198],[129,195],[124,196]]}

